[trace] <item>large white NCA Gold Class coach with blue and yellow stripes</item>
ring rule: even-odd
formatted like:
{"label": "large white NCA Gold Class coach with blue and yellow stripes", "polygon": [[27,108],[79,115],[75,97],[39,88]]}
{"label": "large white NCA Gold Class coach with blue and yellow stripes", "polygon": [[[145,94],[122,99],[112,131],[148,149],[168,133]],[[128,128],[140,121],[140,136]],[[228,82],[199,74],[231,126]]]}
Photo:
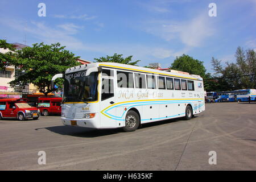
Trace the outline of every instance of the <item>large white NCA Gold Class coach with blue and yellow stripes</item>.
{"label": "large white NCA Gold Class coach with blue and yellow stripes", "polygon": [[134,131],[139,125],[205,110],[203,78],[118,63],[67,69],[61,121],[64,125]]}

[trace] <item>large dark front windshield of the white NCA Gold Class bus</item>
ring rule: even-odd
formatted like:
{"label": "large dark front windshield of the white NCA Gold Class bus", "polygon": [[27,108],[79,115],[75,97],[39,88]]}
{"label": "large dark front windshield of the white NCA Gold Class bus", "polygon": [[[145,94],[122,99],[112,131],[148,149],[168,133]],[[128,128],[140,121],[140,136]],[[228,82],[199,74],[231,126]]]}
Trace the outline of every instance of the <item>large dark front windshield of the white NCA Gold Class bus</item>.
{"label": "large dark front windshield of the white NCA Gold Class bus", "polygon": [[85,84],[85,71],[68,73],[64,78],[63,102],[87,102],[97,100],[97,72],[89,76],[90,85]]}

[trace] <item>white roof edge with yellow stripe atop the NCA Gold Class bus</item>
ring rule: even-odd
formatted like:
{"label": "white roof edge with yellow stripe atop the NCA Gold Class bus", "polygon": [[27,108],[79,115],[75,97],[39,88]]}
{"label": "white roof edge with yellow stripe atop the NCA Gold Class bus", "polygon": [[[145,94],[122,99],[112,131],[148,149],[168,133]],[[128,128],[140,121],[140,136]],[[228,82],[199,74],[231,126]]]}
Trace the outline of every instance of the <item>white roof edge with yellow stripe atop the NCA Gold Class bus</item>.
{"label": "white roof edge with yellow stripe atop the NCA Gold Class bus", "polygon": [[126,71],[135,71],[135,72],[143,72],[143,73],[152,73],[152,74],[159,74],[163,76],[174,76],[174,77],[180,77],[180,78],[189,78],[192,80],[201,80],[203,81],[203,78],[201,78],[199,75],[189,75],[187,72],[180,72],[180,71],[161,71],[158,69],[151,69],[151,68],[144,68],[144,67],[138,67],[134,65],[127,65],[127,64],[120,64],[120,63],[111,63],[111,62],[102,62],[102,63],[89,63],[85,65],[79,65],[76,67],[68,68],[65,72],[72,73],[77,71],[83,71],[85,69],[93,68],[93,67],[102,67],[102,68],[116,68],[116,69],[123,69]]}

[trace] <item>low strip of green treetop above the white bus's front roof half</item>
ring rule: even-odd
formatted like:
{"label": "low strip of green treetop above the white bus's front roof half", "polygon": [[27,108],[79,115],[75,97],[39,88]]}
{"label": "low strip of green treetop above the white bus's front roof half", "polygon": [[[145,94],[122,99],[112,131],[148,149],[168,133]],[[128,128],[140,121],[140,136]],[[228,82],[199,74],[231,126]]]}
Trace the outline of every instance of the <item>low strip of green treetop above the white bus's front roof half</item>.
{"label": "low strip of green treetop above the white bus's front roof half", "polygon": [[141,60],[137,60],[132,62],[131,58],[133,56],[128,56],[123,58],[123,55],[118,55],[117,53],[114,53],[113,56],[106,56],[106,57],[100,57],[99,59],[94,58],[97,62],[113,62],[113,63],[121,63],[121,64],[130,64],[130,65],[137,65],[137,63]]}

